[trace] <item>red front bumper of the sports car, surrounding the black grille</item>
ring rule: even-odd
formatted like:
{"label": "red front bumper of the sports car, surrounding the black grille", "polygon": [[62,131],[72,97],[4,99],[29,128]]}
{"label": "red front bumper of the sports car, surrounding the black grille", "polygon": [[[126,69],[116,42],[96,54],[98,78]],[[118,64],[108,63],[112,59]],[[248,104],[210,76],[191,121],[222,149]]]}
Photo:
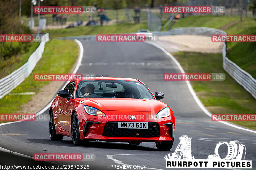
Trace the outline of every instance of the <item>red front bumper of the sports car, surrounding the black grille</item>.
{"label": "red front bumper of the sports car, surrounding the black grille", "polygon": [[[79,116],[82,116],[82,115],[79,115]],[[157,120],[133,121],[130,119],[104,120],[104,119],[100,119],[98,116],[88,116],[88,115],[85,115],[85,116],[87,116],[88,118],[82,119],[82,121],[79,122],[79,124],[80,124],[80,139],[86,139],[86,140],[117,141],[117,142],[171,141],[173,139],[174,130],[175,130],[175,121],[173,123],[171,121],[171,117],[159,118]],[[79,118],[79,120],[81,119]],[[106,125],[109,125],[109,123],[115,124],[118,121],[148,122],[149,126],[148,126],[148,129],[124,130],[124,129],[117,129],[117,127],[115,128],[112,127],[112,129],[111,128],[106,129]],[[153,125],[156,125],[156,127],[153,127]],[[154,128],[159,128],[159,132],[154,133],[154,130],[155,130]]]}

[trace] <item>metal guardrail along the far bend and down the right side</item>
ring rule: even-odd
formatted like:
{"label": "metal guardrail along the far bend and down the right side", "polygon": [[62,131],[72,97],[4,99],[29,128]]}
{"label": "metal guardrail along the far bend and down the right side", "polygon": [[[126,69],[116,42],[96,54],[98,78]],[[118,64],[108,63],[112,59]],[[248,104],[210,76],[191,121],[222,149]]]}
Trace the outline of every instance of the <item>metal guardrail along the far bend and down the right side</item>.
{"label": "metal guardrail along the far bend and down the right side", "polygon": [[[131,33],[134,34],[134,33]],[[165,35],[206,35],[211,36],[213,34],[227,34],[225,31],[214,28],[206,27],[181,27],[173,28],[169,31],[153,31],[153,35],[165,36]],[[78,39],[78,40],[96,40],[96,35],[85,35],[75,37],[60,37],[63,39]],[[223,42],[222,48],[223,68],[224,70],[236,80],[238,84],[244,87],[255,99],[256,99],[256,80],[248,72],[241,69],[234,62],[229,60],[226,55],[226,44]]]}

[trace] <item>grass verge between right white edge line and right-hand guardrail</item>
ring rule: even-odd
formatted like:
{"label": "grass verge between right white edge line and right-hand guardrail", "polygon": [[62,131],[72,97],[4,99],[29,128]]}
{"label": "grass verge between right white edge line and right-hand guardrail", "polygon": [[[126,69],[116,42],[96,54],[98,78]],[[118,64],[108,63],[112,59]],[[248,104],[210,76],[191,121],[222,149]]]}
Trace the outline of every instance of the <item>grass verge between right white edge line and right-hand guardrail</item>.
{"label": "grass verge between right white edge line and right-hand guardrail", "polygon": [[[221,54],[173,54],[186,73],[225,73],[224,81],[190,81],[196,95],[212,114],[255,114],[256,100],[222,68]],[[256,122],[233,122],[256,129]]]}

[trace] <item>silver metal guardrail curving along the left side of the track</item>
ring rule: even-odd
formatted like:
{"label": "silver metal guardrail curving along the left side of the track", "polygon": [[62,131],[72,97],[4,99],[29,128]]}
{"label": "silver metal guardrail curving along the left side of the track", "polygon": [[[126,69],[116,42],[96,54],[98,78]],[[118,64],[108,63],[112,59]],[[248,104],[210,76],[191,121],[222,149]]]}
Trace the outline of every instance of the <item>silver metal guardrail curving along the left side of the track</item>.
{"label": "silver metal guardrail curving along the left side of the track", "polygon": [[44,45],[47,41],[49,41],[49,34],[44,34],[43,38],[45,41],[42,41],[39,44],[38,48],[30,55],[28,61],[24,65],[13,71],[8,76],[0,79],[0,99],[20,85],[20,83],[22,83],[32,72],[36,66],[36,63],[42,58]]}

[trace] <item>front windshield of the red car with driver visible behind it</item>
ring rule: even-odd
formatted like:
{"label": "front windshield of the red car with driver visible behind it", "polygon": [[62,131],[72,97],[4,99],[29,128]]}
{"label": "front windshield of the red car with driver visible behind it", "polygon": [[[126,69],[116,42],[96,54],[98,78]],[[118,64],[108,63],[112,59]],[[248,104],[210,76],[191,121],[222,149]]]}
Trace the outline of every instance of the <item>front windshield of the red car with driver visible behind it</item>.
{"label": "front windshield of the red car with driver visible behind it", "polygon": [[[84,96],[87,92],[89,95]],[[82,80],[77,85],[76,98],[82,97],[154,99],[145,85],[122,80]]]}

